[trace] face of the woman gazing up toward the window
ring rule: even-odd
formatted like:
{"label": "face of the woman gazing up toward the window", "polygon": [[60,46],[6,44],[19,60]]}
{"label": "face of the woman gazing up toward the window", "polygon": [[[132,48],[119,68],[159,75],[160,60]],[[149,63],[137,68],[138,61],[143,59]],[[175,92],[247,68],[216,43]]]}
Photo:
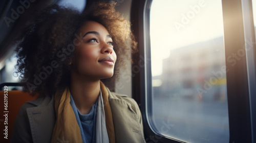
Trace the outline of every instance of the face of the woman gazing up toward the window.
{"label": "face of the woman gazing up toward the window", "polygon": [[79,32],[84,36],[80,45],[76,46],[72,73],[97,80],[112,77],[116,53],[109,32],[95,21],[87,21]]}

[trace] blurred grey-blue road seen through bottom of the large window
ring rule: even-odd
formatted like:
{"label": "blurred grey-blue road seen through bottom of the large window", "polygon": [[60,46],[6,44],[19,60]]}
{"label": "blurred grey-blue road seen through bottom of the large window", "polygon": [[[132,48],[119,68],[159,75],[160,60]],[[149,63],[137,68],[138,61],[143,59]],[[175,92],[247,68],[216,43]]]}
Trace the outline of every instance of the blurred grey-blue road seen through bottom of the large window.
{"label": "blurred grey-blue road seen through bottom of the large window", "polygon": [[197,143],[229,140],[226,102],[155,97],[152,117],[158,132],[168,137]]}

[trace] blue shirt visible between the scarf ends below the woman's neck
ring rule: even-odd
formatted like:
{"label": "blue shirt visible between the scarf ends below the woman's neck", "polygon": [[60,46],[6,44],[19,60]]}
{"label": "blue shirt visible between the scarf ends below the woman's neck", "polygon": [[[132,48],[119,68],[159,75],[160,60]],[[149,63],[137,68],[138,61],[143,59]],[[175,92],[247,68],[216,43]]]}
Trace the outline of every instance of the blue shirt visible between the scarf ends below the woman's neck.
{"label": "blue shirt visible between the scarf ends below the woman's neck", "polygon": [[70,94],[70,104],[76,116],[76,121],[81,131],[83,143],[94,143],[96,142],[96,116],[97,116],[97,104],[93,105],[91,111],[88,114],[81,114],[77,109],[75,102]]}

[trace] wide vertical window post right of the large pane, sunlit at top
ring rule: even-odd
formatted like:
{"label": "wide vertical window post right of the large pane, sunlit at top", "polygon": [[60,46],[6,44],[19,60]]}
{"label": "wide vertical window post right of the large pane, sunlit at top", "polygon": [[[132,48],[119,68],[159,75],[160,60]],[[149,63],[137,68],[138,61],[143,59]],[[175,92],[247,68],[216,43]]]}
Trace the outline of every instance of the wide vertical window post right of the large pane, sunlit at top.
{"label": "wide vertical window post right of the large pane, sunlit at top", "polygon": [[[254,101],[252,99],[250,100],[250,98],[253,98],[253,95],[250,95],[253,89],[249,89],[249,86],[253,85],[248,82],[248,74],[250,76],[254,75],[255,77],[255,72],[248,73],[248,68],[250,67],[248,66],[249,61],[247,62],[246,60],[247,55],[241,57],[234,66],[232,66],[227,59],[232,53],[237,53],[240,49],[245,50],[246,48],[244,45],[246,43],[245,38],[247,37],[245,34],[247,33],[244,29],[246,28],[244,23],[247,21],[245,22],[244,20],[249,20],[248,23],[252,23],[253,25],[252,4],[251,1],[223,0],[222,7],[226,66],[229,67],[229,72],[227,73],[229,142],[253,142],[253,120],[251,117],[254,116],[255,118],[255,112],[252,113],[251,109],[255,108],[255,97]],[[250,18],[243,19],[246,17],[246,13],[243,13],[243,10],[246,9],[249,11]],[[253,37],[252,40],[255,42],[254,27],[250,28],[253,29],[251,36]],[[256,54],[254,49],[255,45],[253,45],[251,52],[254,55],[254,57],[251,58],[255,60]],[[248,51],[246,54],[248,54]],[[252,106],[250,107],[250,105],[253,104],[254,107],[251,108]]]}

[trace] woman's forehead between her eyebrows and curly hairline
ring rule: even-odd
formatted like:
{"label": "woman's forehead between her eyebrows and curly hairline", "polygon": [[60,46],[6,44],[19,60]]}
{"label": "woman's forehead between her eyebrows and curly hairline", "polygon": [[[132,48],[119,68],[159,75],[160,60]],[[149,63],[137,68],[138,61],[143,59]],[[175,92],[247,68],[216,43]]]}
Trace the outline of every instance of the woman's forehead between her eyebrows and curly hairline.
{"label": "woman's forehead between her eyebrows and curly hairline", "polygon": [[102,26],[100,23],[98,23],[96,21],[87,21],[80,28],[80,32],[82,32],[82,34],[85,34],[89,31],[96,31],[100,35],[109,35],[108,30],[106,30],[106,28],[104,26]]}

